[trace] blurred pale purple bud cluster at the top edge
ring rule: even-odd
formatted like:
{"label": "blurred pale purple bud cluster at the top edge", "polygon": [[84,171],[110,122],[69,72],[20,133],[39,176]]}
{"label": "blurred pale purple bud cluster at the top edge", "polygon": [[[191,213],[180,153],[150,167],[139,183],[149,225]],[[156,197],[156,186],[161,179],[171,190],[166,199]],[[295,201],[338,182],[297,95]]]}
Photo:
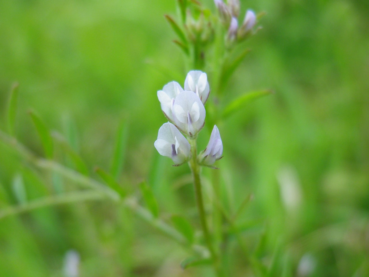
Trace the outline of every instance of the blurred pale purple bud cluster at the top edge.
{"label": "blurred pale purple bud cluster at the top edge", "polygon": [[256,23],[256,16],[252,10],[247,10],[244,21],[238,27],[239,0],[228,0],[225,4],[222,0],[214,0],[220,14],[221,21],[228,28],[227,40],[232,43],[235,40],[244,40],[252,32]]}

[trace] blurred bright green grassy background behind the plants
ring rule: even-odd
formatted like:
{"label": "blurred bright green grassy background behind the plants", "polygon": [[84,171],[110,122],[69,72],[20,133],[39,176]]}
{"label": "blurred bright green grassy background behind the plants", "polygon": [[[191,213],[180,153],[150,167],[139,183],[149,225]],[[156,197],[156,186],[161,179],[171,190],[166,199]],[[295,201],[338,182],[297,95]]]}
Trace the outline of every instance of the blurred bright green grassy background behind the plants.
{"label": "blurred bright green grassy background behind the plants", "polygon": [[[213,1],[202,2],[215,10]],[[275,93],[220,128],[218,166],[231,208],[254,195],[241,216],[249,226],[243,237],[261,234],[259,257],[266,264],[279,259],[276,276],[368,276],[369,2],[241,1],[241,14],[247,8],[267,15],[224,104],[249,90]],[[171,167],[153,147],[166,122],[156,91],[172,80],[183,84],[187,73],[163,17],[175,13],[174,0],[0,1],[0,126],[6,130],[17,81],[18,139],[43,155],[32,108],[49,128],[73,136],[96,177],[95,166],[110,166],[123,120],[121,184],[135,191],[148,180],[164,220],[179,213],[196,225],[187,165]],[[199,139],[205,146],[206,132]],[[29,199],[54,193],[0,143],[0,208],[17,204],[17,174]],[[80,276],[211,276],[207,267],[182,270],[180,246],[109,201],[0,221],[0,276],[65,276],[70,250],[80,257]],[[238,253],[230,257],[232,276],[247,276]]]}

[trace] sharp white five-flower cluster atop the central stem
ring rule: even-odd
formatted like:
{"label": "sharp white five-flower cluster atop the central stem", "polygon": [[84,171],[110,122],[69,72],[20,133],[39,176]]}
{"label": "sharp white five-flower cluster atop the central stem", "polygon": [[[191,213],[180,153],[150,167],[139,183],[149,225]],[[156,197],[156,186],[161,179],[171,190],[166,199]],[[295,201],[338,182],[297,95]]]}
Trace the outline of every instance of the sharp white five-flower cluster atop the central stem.
{"label": "sharp white five-flower cluster atop the central stem", "polygon": [[[161,109],[169,122],[160,127],[154,146],[159,154],[171,158],[175,165],[185,163],[191,156],[189,139],[196,138],[204,127],[204,104],[209,93],[207,75],[201,71],[190,71],[187,74],[184,89],[173,81],[158,91]],[[201,165],[211,166],[222,157],[222,153],[222,140],[218,127],[214,125],[209,143],[197,161]]]}

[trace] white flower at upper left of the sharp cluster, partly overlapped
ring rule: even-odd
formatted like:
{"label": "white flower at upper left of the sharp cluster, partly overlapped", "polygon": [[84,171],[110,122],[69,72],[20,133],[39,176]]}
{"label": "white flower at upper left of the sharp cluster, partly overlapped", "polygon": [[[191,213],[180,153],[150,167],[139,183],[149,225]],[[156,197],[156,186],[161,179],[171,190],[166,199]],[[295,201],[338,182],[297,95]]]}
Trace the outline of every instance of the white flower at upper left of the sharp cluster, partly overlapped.
{"label": "white flower at upper left of the sharp cluster, partly overlapped", "polygon": [[163,90],[158,90],[158,99],[160,101],[161,109],[170,121],[173,121],[172,109],[174,99],[181,92],[183,92],[183,89],[177,82],[167,83],[163,87]]}

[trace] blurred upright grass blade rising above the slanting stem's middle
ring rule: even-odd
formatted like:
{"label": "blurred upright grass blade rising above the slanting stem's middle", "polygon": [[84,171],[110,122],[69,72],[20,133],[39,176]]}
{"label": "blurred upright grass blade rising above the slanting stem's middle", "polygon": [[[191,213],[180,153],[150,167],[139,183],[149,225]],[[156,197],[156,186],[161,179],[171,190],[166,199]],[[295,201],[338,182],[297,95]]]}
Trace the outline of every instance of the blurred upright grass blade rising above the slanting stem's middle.
{"label": "blurred upright grass blade rising above the slanting stem's middle", "polygon": [[125,151],[127,148],[128,140],[128,123],[126,120],[122,120],[118,128],[117,137],[115,140],[115,147],[113,153],[113,160],[111,162],[111,175],[117,180],[121,174],[121,170],[124,164]]}

